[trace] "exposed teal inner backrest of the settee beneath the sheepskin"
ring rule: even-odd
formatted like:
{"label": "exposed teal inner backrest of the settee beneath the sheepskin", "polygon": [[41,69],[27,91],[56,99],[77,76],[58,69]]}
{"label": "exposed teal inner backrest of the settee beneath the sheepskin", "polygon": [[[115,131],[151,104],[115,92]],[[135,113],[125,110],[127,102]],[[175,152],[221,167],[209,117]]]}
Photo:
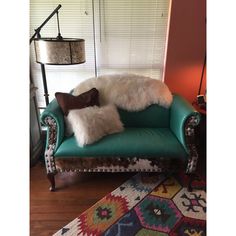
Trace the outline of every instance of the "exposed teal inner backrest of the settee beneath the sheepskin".
{"label": "exposed teal inner backrest of the settee beneath the sheepskin", "polygon": [[153,104],[145,110],[128,112],[118,109],[125,127],[167,128],[170,123],[170,109]]}

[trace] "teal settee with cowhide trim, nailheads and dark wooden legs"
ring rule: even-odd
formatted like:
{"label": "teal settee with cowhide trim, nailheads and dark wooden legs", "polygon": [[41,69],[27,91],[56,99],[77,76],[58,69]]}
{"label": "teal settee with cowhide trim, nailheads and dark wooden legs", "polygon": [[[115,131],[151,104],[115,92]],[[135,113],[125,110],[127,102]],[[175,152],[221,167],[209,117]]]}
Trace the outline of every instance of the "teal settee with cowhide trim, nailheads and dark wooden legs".
{"label": "teal settee with cowhide trim, nailheads and dark wooden legs", "polygon": [[[139,112],[118,112],[123,132],[79,147],[74,135],[65,135],[64,115],[56,99],[47,106],[41,120],[47,126],[45,164],[51,191],[55,174],[64,171],[194,174],[198,159],[194,127],[200,115],[184,98],[173,95],[168,109],[153,104]],[[191,180],[188,187],[191,190]]]}

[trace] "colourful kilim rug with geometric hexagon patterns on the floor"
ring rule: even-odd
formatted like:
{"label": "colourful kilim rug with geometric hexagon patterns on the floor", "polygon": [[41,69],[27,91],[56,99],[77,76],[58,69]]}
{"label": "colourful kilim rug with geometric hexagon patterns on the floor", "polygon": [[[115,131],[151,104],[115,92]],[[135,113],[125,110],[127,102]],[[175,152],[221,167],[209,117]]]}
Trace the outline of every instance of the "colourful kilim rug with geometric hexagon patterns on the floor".
{"label": "colourful kilim rug with geometric hexagon patterns on the floor", "polygon": [[188,192],[186,177],[137,174],[54,236],[204,236],[203,180]]}

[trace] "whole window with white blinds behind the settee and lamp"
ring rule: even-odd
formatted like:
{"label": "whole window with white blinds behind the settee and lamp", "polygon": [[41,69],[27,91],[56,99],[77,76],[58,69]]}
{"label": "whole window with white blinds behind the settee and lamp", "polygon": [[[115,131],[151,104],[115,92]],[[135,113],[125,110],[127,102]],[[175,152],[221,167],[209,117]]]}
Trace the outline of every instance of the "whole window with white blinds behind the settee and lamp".
{"label": "whole window with white blinds behind the settee and lamp", "polygon": [[[86,63],[46,65],[49,100],[57,91],[68,92],[79,82],[107,73],[137,73],[162,79],[170,0],[61,0],[63,37],[85,39]],[[57,7],[58,1],[30,1],[30,35]],[[57,36],[56,15],[41,30]],[[31,74],[39,107],[44,107],[40,65],[30,47]]]}

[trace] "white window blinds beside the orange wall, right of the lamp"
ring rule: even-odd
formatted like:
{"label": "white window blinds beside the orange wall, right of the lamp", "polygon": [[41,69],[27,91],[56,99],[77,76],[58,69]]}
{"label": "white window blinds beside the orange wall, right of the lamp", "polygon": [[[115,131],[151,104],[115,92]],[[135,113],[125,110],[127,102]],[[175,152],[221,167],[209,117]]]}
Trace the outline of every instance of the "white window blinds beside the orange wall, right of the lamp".
{"label": "white window blinds beside the orange wall, right of the lamp", "polygon": [[169,0],[101,0],[99,72],[162,79]]}

